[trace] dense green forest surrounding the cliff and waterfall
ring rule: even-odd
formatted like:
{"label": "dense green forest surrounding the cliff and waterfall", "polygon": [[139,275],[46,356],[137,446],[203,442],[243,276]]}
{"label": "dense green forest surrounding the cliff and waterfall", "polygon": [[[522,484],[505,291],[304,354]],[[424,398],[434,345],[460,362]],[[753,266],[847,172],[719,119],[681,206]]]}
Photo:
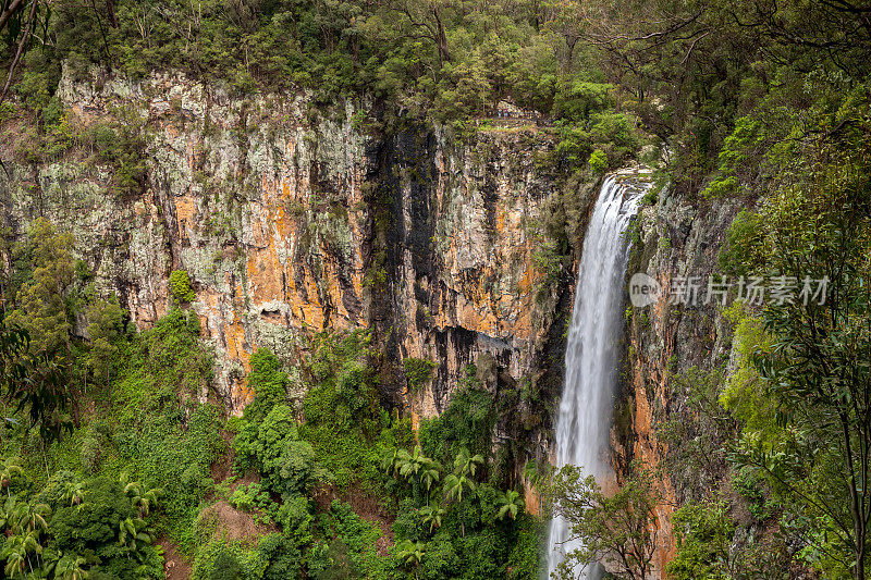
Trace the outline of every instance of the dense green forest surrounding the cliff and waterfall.
{"label": "dense green forest surrounding the cliff and waterfall", "polygon": [[[2,577],[538,579],[560,513],[584,540],[563,578],[593,563],[633,579],[871,578],[871,3],[3,0],[0,34]],[[559,192],[537,224],[542,295],[574,284],[580,184],[641,163],[651,211],[738,208],[721,247],[699,250],[717,275],[824,279],[825,299],[706,310],[731,354],[671,366],[680,405],[654,415],[668,451],[613,486],[530,451],[559,390],[495,392],[480,357],[438,414],[389,396],[443,371],[408,356],[387,372],[377,321],[303,328],[292,359],[254,348],[252,399],[232,412],[185,268],[138,324],[35,194],[28,223],[8,208],[13,164],[75,159],[110,175],[107,199],[152,186],[147,119],[84,123],[63,102],[62,79],[95,71],[181,74],[228,99],[305,94],[306,115],[349,107],[384,143],[543,135],[536,171]],[[367,192],[378,301],[394,201]],[[628,307],[629,332],[653,332],[647,317]]]}

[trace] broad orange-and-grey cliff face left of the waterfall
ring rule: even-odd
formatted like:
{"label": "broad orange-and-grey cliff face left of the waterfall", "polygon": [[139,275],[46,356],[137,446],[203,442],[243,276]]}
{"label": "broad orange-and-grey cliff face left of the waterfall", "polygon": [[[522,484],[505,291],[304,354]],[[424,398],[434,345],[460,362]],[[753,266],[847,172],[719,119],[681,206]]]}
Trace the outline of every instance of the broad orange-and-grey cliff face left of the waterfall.
{"label": "broad orange-and-grey cliff face left of the waterfall", "polygon": [[[7,225],[20,236],[45,215],[70,230],[98,292],[115,292],[142,328],[168,310],[170,273],[186,270],[232,411],[253,397],[254,349],[292,361],[323,329],[372,329],[388,355],[384,395],[417,415],[439,412],[479,358],[494,388],[562,373],[549,357],[573,284],[547,284],[535,259],[557,193],[537,169],[552,143],[535,127],[462,145],[419,127],[385,135],[366,103],[233,98],[181,74],[65,71],[58,95],[76,131],[137,125],[145,176],[120,189],[116,168],[75,138],[25,162],[14,153],[23,128],[8,127],[4,157],[17,161],[0,174]],[[437,365],[414,395],[406,357]]]}

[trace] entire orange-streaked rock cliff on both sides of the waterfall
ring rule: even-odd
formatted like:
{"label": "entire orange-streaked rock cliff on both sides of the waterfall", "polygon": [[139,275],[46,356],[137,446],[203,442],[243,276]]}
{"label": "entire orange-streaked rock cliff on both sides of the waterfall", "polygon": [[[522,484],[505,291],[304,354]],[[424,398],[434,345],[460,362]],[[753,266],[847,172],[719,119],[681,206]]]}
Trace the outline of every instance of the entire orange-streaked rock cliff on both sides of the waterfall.
{"label": "entire orange-streaked rock cliff on both sides of the waterfall", "polygon": [[[58,96],[71,127],[60,153],[28,158],[26,127],[7,122],[0,143],[14,161],[0,172],[0,194],[11,236],[39,215],[71,231],[98,293],[115,293],[139,328],[167,312],[170,274],[185,270],[191,308],[216,351],[213,386],[230,411],[254,396],[246,373],[256,348],[292,363],[312,332],[365,328],[383,354],[385,400],[415,419],[437,415],[474,362],[484,387],[514,397],[495,439],[523,440],[519,460],[547,454],[585,217],[599,185],[541,162],[553,136],[520,126],[461,139],[401,119],[388,132],[372,102],[235,97],[171,73],[132,81],[65,70]],[[76,138],[103,125],[145,137],[136,186],[119,187],[118,166]],[[554,263],[548,229],[560,205],[569,207],[556,220],[568,247]],[[661,193],[630,234],[628,275],[646,272],[665,288],[678,276],[707,280],[737,209]],[[613,437],[618,472],[635,458],[664,465],[658,427],[685,412],[674,377],[713,368],[731,348],[711,304],[671,305],[663,293],[629,320]],[[403,371],[409,358],[434,363],[417,388]],[[302,398],[298,378],[293,386]],[[684,476],[659,481],[660,570],[674,550],[673,506],[716,484],[716,473],[689,483]],[[535,494],[527,501],[537,509]]]}

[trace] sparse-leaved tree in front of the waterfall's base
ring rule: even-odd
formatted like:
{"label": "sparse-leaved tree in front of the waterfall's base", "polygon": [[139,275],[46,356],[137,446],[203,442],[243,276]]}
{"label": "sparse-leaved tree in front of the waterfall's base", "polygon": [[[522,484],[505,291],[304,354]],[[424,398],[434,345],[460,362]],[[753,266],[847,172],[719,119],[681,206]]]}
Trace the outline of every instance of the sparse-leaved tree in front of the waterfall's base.
{"label": "sparse-leaved tree in front of the waterfall's base", "polygon": [[568,522],[569,541],[581,542],[560,564],[560,578],[574,578],[576,567],[600,562],[626,578],[648,578],[657,547],[654,510],[660,499],[649,471],[636,469],[608,496],[594,477],[584,477],[578,467],[568,465],[554,474],[547,492],[553,498],[554,515]]}

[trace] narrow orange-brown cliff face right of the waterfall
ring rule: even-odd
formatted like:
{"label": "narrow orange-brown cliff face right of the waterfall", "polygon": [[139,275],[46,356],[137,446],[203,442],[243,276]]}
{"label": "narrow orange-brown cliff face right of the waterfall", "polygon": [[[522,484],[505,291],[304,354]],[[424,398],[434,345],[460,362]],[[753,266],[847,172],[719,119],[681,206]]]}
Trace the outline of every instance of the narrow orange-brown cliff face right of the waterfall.
{"label": "narrow orange-brown cliff face right of the waterfall", "polygon": [[[655,301],[633,310],[628,325],[623,397],[615,421],[616,462],[626,469],[633,459],[659,471],[657,488],[663,502],[658,509],[658,548],[653,559],[658,575],[674,555],[671,515],[688,499],[700,499],[722,483],[722,466],[687,470],[670,461],[675,448],[700,435],[688,403],[686,381],[690,369],[723,369],[732,351],[732,330],[716,300],[706,301],[709,276],[726,231],[740,209],[737,202],[708,203],[671,196],[641,209],[635,231],[627,281],[636,272],[661,286]],[[717,279],[719,280],[719,279]],[[698,283],[694,299],[680,291]],[[716,402],[712,402],[716,405]],[[666,422],[679,425],[682,436],[670,442]],[[708,433],[706,436],[724,434]]]}

